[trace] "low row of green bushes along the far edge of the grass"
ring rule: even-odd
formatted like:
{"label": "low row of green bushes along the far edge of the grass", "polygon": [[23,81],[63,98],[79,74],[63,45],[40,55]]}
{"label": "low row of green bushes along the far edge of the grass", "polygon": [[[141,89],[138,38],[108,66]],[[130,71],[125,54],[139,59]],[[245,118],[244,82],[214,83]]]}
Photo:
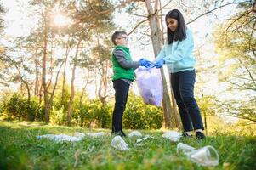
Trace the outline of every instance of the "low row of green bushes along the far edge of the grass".
{"label": "low row of green bushes along the far edge of the grass", "polygon": [[[68,88],[65,88],[64,99],[61,90],[55,92],[54,103],[50,112],[51,123],[66,125],[67,105],[69,101]],[[72,125],[80,127],[111,128],[111,116],[114,105],[110,102],[103,105],[99,99],[88,99],[77,91],[72,108]],[[63,105],[61,105],[63,104]],[[135,105],[136,104],[136,105]],[[4,118],[43,121],[44,107],[39,105],[36,96],[28,102],[19,93],[3,94],[0,101],[0,112]],[[162,127],[162,111],[153,105],[145,105],[143,100],[134,94],[128,97],[128,104],[123,116],[123,127],[129,129],[159,129]]]}

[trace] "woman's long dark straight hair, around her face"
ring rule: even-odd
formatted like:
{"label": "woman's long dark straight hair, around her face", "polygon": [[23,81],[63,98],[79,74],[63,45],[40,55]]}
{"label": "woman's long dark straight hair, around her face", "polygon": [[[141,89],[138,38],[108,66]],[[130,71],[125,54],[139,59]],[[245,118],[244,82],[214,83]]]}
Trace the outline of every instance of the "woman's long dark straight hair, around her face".
{"label": "woman's long dark straight hair, around her face", "polygon": [[[168,22],[167,19],[172,18],[178,21],[178,27],[176,31],[171,31],[168,28]],[[168,44],[173,43],[173,41],[182,41],[186,38],[185,30],[185,21],[183,18],[183,15],[179,12],[178,9],[173,9],[168,12],[165,16],[165,21],[167,25],[167,36],[168,36]]]}

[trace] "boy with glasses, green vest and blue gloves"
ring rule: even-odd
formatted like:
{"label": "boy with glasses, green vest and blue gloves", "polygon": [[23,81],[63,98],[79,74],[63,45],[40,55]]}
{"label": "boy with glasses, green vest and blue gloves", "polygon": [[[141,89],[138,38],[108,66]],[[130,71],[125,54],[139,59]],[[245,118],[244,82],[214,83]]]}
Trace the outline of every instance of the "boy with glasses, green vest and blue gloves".
{"label": "boy with glasses, green vest and blue gloves", "polygon": [[130,84],[134,81],[134,70],[140,65],[146,68],[151,67],[151,62],[146,59],[133,61],[128,45],[128,35],[125,31],[115,31],[111,37],[115,48],[112,52],[113,64],[113,85],[115,89],[115,108],[112,117],[112,133],[126,136],[122,132],[122,115],[128,99]]}

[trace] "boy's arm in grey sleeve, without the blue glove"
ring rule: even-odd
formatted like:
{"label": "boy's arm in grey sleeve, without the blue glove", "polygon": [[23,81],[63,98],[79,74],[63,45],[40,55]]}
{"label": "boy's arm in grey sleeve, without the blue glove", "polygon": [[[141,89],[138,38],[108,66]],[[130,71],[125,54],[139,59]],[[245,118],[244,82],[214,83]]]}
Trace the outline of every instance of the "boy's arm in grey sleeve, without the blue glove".
{"label": "boy's arm in grey sleeve, without the blue glove", "polygon": [[127,59],[125,59],[125,54],[123,53],[123,51],[121,49],[117,49],[114,52],[114,55],[117,59],[117,62],[122,66],[122,68],[125,69],[130,69],[130,68],[134,68],[137,69],[139,67],[139,61],[128,61]]}

